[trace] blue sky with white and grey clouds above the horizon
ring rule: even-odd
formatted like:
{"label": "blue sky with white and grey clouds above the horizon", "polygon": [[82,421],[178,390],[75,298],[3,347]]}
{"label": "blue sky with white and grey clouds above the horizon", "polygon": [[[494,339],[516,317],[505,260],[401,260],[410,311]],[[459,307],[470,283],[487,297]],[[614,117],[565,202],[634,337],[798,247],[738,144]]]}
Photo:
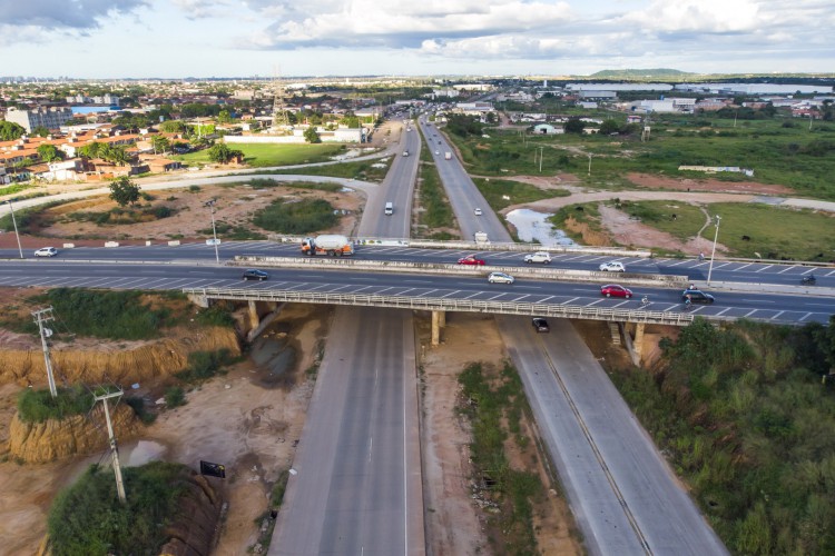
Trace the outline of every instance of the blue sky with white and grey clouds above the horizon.
{"label": "blue sky with white and grey clouds above the horizon", "polygon": [[0,76],[835,71],[832,0],[0,0]]}

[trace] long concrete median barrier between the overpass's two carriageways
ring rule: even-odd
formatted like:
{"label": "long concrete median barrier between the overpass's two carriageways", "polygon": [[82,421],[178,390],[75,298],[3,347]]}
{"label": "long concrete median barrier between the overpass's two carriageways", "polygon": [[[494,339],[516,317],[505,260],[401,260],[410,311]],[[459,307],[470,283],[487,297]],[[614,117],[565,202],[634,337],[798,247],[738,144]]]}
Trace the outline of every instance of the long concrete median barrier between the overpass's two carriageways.
{"label": "long concrete median barrier between the overpass's two carriageways", "polygon": [[[450,265],[439,262],[412,262],[401,260],[366,260],[351,259],[342,257],[258,257],[237,255],[230,261],[235,266],[247,266],[257,264],[259,266],[271,266],[277,268],[320,268],[344,270],[373,270],[384,272],[410,272],[410,274],[432,274],[432,275],[455,275],[455,276],[483,276],[490,272],[507,272],[514,276],[525,276],[529,278],[552,279],[552,280],[573,280],[590,281],[598,284],[609,284],[616,281],[612,272],[600,272],[589,270],[570,270],[560,268],[550,268],[546,266],[523,266],[523,267],[503,267],[503,266],[473,266],[473,265]],[[630,272],[617,274],[617,281],[630,285],[668,287],[684,289],[689,279],[686,276],[675,275],[641,275]]]}

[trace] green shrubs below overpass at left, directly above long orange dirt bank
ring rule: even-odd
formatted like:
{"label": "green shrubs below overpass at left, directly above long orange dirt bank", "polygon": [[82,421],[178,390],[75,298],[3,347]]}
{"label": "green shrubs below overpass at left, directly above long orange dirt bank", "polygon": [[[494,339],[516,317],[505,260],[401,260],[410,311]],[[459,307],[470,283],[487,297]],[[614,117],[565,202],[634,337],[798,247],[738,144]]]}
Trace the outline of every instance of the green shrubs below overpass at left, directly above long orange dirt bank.
{"label": "green shrubs below overpass at left, directly above long orange dirt bank", "polygon": [[[46,300],[65,316],[58,331],[112,340],[159,337],[159,329],[173,324],[170,312],[143,300],[140,291],[55,288]],[[71,318],[69,318],[71,317]]]}

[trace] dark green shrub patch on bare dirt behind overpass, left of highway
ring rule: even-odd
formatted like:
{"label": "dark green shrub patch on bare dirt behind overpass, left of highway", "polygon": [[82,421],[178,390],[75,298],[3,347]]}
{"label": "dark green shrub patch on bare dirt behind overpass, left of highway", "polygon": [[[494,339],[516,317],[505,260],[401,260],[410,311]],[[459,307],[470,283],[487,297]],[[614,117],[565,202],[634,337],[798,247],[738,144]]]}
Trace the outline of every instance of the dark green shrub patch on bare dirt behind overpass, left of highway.
{"label": "dark green shrub patch on bare dirt behind overpass, left of highway", "polygon": [[340,217],[324,199],[287,202],[276,199],[255,214],[253,224],[277,234],[310,234],[336,226]]}

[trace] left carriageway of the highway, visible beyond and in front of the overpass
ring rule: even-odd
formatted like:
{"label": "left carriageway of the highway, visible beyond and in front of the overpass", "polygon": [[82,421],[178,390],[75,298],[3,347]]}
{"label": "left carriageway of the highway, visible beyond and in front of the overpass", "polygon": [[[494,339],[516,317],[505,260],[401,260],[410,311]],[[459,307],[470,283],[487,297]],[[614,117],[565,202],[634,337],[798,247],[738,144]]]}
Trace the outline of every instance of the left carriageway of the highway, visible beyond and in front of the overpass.
{"label": "left carriageway of the highway, visible beyond and in front of the overpass", "polygon": [[[420,139],[400,139],[362,234],[409,236]],[[337,308],[268,554],[425,554],[413,330],[411,311]]]}

